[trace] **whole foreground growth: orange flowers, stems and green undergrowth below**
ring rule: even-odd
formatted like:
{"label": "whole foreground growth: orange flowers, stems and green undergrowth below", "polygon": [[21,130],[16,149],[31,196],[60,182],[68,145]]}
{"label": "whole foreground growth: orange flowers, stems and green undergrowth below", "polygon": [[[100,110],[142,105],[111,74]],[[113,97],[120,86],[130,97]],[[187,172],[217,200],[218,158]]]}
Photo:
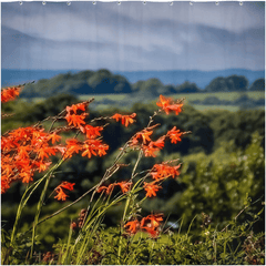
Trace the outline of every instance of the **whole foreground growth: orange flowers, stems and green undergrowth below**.
{"label": "whole foreground growth: orange flowers, stems and green undergrowth below", "polygon": [[[10,89],[9,91],[2,91],[2,101],[7,101],[7,98],[12,99],[14,94],[18,94],[17,92],[18,90],[10,91]],[[51,180],[57,176],[59,166],[64,160],[66,161],[73,153],[79,153],[79,151],[82,152],[82,156],[92,157],[92,155],[103,156],[106,150],[109,150],[109,146],[102,142],[102,139],[99,139],[101,131],[108,125],[90,125],[86,122],[88,114],[85,113],[85,108],[89,103],[90,101],[73,104],[59,115],[50,117],[53,122],[48,133],[44,133],[44,129],[40,127],[40,123],[38,123],[35,126],[28,127],[27,130],[18,129],[7,132],[2,136],[2,192],[4,193],[9,190],[11,183],[20,180],[29,184],[19,205],[11,235],[6,231],[2,233],[2,243],[4,244],[2,245],[3,264],[42,264],[43,262],[49,264],[264,263],[264,244],[262,244],[264,243],[264,233],[253,233],[264,211],[262,198],[252,204],[250,198],[246,195],[244,208],[234,217],[232,223],[222,229],[218,228],[218,225],[213,227],[209,216],[203,213],[202,233],[198,235],[191,234],[194,221],[192,221],[186,234],[181,234],[183,219],[180,221],[180,229],[173,234],[171,233],[171,227],[164,226],[163,222],[166,221],[166,217],[163,214],[157,212],[146,216],[142,214],[141,208],[146,197],[156,196],[156,193],[162,188],[162,183],[167,182],[171,177],[178,176],[181,164],[174,165],[178,161],[172,160],[157,163],[150,170],[136,172],[142,161],[141,158],[144,161],[145,157],[155,157],[157,152],[166,145],[166,140],[172,144],[176,144],[181,141],[184,133],[188,133],[176,130],[176,126],[174,126],[165,135],[158,136],[156,141],[150,139],[153,135],[154,129],[158,126],[158,124],[153,123],[155,116],[161,112],[165,112],[166,114],[174,112],[177,115],[182,111],[182,101],[172,102],[171,99],[163,96],[160,98],[160,102],[157,103],[161,109],[150,117],[147,126],[144,130],[136,132],[126,142],[126,145],[116,156],[115,164],[112,164],[105,172],[104,178],[93,186],[93,190],[89,190],[78,198],[82,200],[86,195],[91,195],[88,208],[82,209],[79,219],[71,223],[68,239],[53,246],[53,253],[50,252],[41,255],[38,252],[38,225],[45,223],[49,218],[63,212],[65,207],[70,207],[79,202],[75,200],[57,213],[40,219],[41,211],[47,204],[45,194],[49,191],[49,184],[52,185]],[[130,115],[116,113],[108,117],[93,119],[91,122],[113,119],[121,121],[127,127],[127,125],[134,122],[135,116],[135,113]],[[53,129],[58,120],[66,120],[69,125]],[[59,133],[64,130],[74,131],[75,137],[66,140],[66,145],[60,144],[53,146],[52,144],[60,140]],[[78,139],[76,131],[79,134],[83,133],[85,136],[83,139],[79,136]],[[84,137],[88,140],[84,140]],[[126,149],[129,150],[126,151]],[[129,166],[123,162],[119,162],[123,157],[122,155],[125,154],[124,152],[129,152],[131,149],[135,150],[139,155],[132,165],[133,170],[130,181],[108,182],[121,167]],[[45,171],[49,164],[52,163],[49,160],[50,155],[55,155],[55,152],[61,154],[61,161],[48,170],[44,176],[31,183],[33,182],[34,172]],[[10,162],[8,160],[10,155],[13,158],[12,165],[8,163]],[[25,163],[21,164],[21,161]],[[146,183],[145,181],[149,178],[152,181]],[[22,209],[42,182],[45,184],[43,184],[40,198],[37,201],[39,203],[33,226],[20,233],[19,224]],[[73,191],[74,185],[74,183],[64,181],[52,193],[57,193],[55,198],[65,201],[68,197],[65,192],[68,190]],[[121,224],[113,232],[108,231],[106,233],[102,227],[104,215],[113,206],[120,206],[121,202],[124,202]],[[254,211],[253,206],[255,204],[260,205],[258,207],[259,211],[253,214],[247,213],[249,217],[245,218],[245,222],[241,225],[237,225],[238,217],[248,209]],[[147,234],[149,237],[140,237],[136,233]],[[165,234],[168,234],[168,236],[167,243],[164,244],[160,242],[160,237]]]}

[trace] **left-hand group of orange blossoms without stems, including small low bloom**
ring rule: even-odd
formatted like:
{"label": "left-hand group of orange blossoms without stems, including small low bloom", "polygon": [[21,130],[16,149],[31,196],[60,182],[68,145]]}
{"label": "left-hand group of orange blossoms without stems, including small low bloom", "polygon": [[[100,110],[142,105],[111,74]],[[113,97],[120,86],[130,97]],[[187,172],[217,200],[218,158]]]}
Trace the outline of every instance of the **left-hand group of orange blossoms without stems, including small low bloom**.
{"label": "left-hand group of orange blossoms without stems, including small low bloom", "polygon": [[[20,88],[8,88],[1,91],[2,102],[13,100],[19,95]],[[68,126],[58,127],[45,132],[39,125],[28,127],[19,127],[7,132],[1,137],[1,193],[6,193],[13,182],[21,181],[30,183],[33,181],[34,173],[44,172],[52,164],[51,156],[61,154],[63,160],[72,157],[74,153],[82,152],[82,156],[91,157],[102,156],[106,154],[109,145],[103,144],[101,136],[102,126],[92,126],[86,124],[84,119],[89,115],[85,113],[89,102],[73,104],[66,106],[63,111],[66,114],[61,116],[68,122]],[[62,112],[62,113],[63,113]],[[69,139],[65,145],[55,145],[60,142],[59,135],[62,131],[80,130],[86,136],[85,141]],[[58,194],[55,198],[65,201],[65,190],[72,191],[73,184],[63,182],[54,192]]]}

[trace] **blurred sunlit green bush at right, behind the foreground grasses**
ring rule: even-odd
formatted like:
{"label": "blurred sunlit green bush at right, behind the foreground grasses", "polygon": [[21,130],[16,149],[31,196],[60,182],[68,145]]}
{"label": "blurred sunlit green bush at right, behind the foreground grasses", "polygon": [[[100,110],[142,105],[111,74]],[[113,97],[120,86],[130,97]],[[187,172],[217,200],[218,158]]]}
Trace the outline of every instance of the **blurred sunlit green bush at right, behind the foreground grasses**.
{"label": "blurred sunlit green bush at right, behind the foreground grasses", "polygon": [[[264,196],[265,157],[260,141],[262,136],[255,133],[245,151],[234,149],[231,142],[208,156],[198,153],[184,157],[180,180],[186,188],[170,198],[162,211],[183,217],[185,226],[204,212],[223,226],[237,215],[247,194],[253,201]],[[263,223],[257,226],[262,229]]]}

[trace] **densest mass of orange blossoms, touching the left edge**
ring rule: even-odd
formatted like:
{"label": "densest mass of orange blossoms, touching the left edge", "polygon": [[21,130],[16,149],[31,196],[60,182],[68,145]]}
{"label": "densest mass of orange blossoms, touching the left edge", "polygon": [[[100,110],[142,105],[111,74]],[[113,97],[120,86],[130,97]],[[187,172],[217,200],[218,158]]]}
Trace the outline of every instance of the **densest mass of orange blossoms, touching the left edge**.
{"label": "densest mass of orange blossoms, touching the left edge", "polygon": [[44,157],[55,155],[58,149],[49,146],[51,134],[43,131],[41,127],[20,127],[2,137],[1,168],[2,178],[7,178],[4,187],[19,180],[22,183],[30,183],[35,171],[44,171],[50,164]]}

